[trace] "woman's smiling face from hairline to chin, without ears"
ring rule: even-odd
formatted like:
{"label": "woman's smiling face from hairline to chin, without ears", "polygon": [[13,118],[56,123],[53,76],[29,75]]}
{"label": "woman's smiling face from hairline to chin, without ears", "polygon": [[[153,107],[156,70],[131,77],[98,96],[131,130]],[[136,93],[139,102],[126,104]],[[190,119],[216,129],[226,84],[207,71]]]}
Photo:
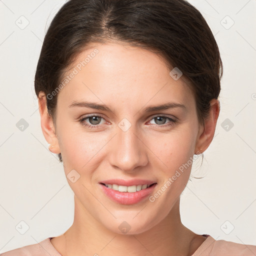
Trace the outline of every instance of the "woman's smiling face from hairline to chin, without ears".
{"label": "woman's smiling face from hairline to chin, without ears", "polygon": [[[167,216],[189,179],[199,130],[191,90],[182,76],[169,75],[156,54],[115,43],[81,52],[66,75],[56,133],[65,174],[75,176],[67,181],[80,210],[113,232],[121,233],[122,221],[129,233],[148,230]],[[106,180],[133,184],[131,190],[134,183],[153,185],[117,192],[102,184]]]}

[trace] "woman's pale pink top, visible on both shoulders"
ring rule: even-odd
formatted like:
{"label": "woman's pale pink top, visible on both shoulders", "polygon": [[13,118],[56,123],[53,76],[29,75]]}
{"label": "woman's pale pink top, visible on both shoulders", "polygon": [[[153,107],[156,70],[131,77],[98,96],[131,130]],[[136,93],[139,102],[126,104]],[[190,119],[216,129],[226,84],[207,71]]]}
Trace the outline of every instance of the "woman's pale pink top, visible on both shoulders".
{"label": "woman's pale pink top, visible on both shoulders", "polygon": [[[207,238],[191,256],[255,256],[256,246],[235,243],[225,240],[215,240],[209,234],[203,234]],[[39,243],[26,245],[1,253],[0,256],[61,256],[51,244],[48,237]]]}

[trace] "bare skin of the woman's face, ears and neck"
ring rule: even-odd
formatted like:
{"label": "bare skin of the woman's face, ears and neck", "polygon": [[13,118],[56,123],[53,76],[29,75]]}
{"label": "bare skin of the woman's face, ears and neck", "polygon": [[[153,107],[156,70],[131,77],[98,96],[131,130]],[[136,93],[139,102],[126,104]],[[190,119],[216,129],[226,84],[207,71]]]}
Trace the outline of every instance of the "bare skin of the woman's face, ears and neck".
{"label": "bare skin of the woman's face, ears and neck", "polygon": [[[219,102],[211,101],[203,127],[185,80],[182,76],[174,80],[155,53],[117,42],[95,43],[80,52],[73,66],[95,48],[99,50],[95,57],[58,92],[56,126],[47,113],[45,94],[40,92],[38,97],[41,128],[50,151],[61,152],[65,175],[72,169],[80,175],[74,183],[67,178],[74,192],[73,224],[50,242],[63,256],[191,255],[205,240],[180,220],[180,194],[191,165],[153,202],[146,198],[130,205],[116,203],[98,182],[147,178],[157,182],[154,194],[189,157],[208,147]],[[105,104],[114,113],[68,107],[74,100]],[[184,104],[186,109],[143,110],[166,102]],[[84,120],[96,128],[79,122],[88,114],[103,115],[94,122]],[[162,115],[177,122],[167,126],[169,119],[154,118]],[[131,124],[125,132],[118,126],[123,118]],[[122,221],[130,226],[125,234],[118,228]]]}

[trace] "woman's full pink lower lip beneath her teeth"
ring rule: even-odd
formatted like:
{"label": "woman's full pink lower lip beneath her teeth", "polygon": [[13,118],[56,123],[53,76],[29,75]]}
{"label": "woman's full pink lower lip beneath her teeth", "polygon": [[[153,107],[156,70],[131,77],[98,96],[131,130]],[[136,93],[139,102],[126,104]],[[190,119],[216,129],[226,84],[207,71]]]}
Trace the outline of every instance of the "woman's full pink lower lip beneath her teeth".
{"label": "woman's full pink lower lip beneath her teeth", "polygon": [[100,186],[103,192],[115,202],[118,202],[120,204],[134,204],[146,198],[153,191],[156,183],[154,183],[150,187],[141,189],[136,192],[120,192],[110,187],[106,187],[103,184],[100,184]]}

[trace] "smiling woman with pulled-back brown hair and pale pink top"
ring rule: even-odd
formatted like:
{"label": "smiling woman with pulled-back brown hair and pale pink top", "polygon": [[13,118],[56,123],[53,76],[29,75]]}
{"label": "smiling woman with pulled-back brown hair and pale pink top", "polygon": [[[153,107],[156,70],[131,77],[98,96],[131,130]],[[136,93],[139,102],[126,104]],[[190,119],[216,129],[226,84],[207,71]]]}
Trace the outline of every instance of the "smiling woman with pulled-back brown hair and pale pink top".
{"label": "smiling woman with pulled-back brown hair and pale pink top", "polygon": [[186,1],[67,1],[34,85],[74,221],[1,255],[255,255],[254,245],[215,241],[180,219],[191,159],[214,135],[221,76],[214,36]]}

